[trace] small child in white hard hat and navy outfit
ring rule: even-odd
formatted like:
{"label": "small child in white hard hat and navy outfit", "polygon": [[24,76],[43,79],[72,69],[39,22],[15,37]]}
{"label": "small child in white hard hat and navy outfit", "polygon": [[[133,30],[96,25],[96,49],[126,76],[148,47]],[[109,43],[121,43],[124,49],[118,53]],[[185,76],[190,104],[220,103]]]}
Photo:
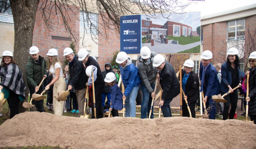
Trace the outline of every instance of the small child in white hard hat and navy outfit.
{"label": "small child in white hard hat and navy outfit", "polygon": [[112,117],[118,116],[118,110],[123,109],[123,93],[115,82],[116,76],[113,72],[107,73],[104,81],[109,85],[109,91],[111,93],[111,106],[109,107],[109,112],[111,112]]}

